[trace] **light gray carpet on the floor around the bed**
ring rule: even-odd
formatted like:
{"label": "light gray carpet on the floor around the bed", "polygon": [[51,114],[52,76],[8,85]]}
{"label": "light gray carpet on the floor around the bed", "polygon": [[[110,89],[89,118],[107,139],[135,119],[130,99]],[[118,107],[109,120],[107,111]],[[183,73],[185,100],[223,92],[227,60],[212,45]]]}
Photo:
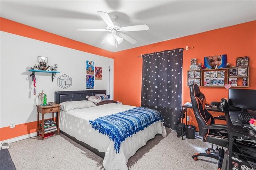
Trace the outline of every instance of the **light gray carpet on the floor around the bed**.
{"label": "light gray carpet on the floor around the bed", "polygon": [[[148,141],[128,160],[128,168],[135,169],[217,169],[217,160],[212,158],[192,159],[195,152],[205,152],[210,144],[198,139],[176,137],[176,132],[166,128],[162,135]],[[60,134],[41,141],[32,137],[10,144],[10,155],[17,170],[61,169],[100,170],[102,158],[68,137]]]}

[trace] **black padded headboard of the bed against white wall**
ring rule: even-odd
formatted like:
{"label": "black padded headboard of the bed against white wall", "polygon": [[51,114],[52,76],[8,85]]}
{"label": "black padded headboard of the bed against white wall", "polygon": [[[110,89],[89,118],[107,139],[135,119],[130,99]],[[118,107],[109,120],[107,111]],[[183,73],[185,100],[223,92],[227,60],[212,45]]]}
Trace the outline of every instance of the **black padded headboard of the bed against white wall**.
{"label": "black padded headboard of the bed against white wall", "polygon": [[80,90],[80,91],[60,91],[54,92],[54,103],[87,100],[85,96],[95,96],[95,94],[106,94],[106,90]]}

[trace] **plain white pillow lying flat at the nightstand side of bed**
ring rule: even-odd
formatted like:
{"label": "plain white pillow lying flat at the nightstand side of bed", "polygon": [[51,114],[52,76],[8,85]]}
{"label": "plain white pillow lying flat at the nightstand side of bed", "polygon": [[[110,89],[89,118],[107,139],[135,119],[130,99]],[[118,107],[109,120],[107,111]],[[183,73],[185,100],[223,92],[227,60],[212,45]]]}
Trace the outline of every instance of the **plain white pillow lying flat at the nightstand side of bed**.
{"label": "plain white pillow lying flat at the nightstand side of bed", "polygon": [[60,109],[62,109],[64,111],[96,106],[93,102],[88,101],[88,100],[63,102],[63,103],[60,103],[60,105],[61,105]]}

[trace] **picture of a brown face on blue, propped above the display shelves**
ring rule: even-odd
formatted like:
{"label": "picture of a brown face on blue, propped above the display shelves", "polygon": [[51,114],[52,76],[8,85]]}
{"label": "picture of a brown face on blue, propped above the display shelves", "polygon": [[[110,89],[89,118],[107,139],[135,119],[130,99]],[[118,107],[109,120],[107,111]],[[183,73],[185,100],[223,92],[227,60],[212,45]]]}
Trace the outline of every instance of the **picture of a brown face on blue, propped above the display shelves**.
{"label": "picture of a brown face on blue, propped above the display shelves", "polygon": [[226,68],[227,55],[214,55],[210,57],[204,57],[204,65],[208,68]]}

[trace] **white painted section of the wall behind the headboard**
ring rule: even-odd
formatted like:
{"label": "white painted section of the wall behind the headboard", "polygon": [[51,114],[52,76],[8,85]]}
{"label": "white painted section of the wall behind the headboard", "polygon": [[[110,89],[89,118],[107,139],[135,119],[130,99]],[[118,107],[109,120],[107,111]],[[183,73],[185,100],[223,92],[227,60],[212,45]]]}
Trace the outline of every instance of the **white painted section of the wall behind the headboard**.
{"label": "white painted section of the wall behind the headboard", "polygon": [[[86,90],[86,60],[94,61],[94,66],[102,67],[102,80],[94,81],[94,89],[106,89],[113,98],[114,60],[82,51],[14,35],[1,31],[1,105],[0,127],[37,120],[36,104],[38,93],[44,90],[47,102],[54,102],[55,91]],[[86,50],[86,49],[85,49]],[[36,96],[30,67],[37,64],[37,57],[48,57],[48,64],[58,64],[53,82],[50,73],[36,72]],[[110,64],[110,92],[109,72]],[[63,89],[57,85],[57,78],[66,74],[72,78],[72,86]],[[46,118],[49,118],[48,114]]]}

